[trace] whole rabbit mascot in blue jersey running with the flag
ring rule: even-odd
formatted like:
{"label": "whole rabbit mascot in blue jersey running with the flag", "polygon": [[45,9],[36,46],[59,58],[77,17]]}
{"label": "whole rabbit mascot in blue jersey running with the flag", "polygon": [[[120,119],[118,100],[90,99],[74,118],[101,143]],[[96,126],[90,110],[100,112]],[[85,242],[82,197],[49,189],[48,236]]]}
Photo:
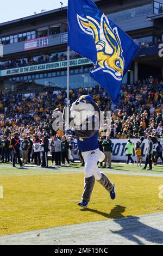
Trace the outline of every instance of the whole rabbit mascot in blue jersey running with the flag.
{"label": "whole rabbit mascot in blue jersey running with the flag", "polygon": [[[64,117],[65,117],[64,109]],[[99,150],[98,132],[101,112],[91,96],[83,95],[72,103],[70,108],[70,122],[74,124],[74,136],[77,138],[78,149],[82,151],[85,161],[84,192],[79,206],[86,208],[90,202],[95,180],[97,180],[115,199],[115,185],[108,177],[99,172],[98,161],[103,162],[105,155]]]}

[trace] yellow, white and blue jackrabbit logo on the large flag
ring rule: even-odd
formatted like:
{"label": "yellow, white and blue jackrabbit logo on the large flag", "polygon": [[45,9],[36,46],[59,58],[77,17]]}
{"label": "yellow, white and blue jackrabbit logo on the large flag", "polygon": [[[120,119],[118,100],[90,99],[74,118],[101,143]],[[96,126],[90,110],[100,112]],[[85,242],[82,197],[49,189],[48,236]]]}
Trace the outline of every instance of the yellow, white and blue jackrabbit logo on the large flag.
{"label": "yellow, white and blue jackrabbit logo on the large flag", "polygon": [[124,58],[121,46],[121,39],[118,35],[117,27],[110,27],[108,18],[103,14],[101,22],[98,23],[92,17],[86,16],[86,19],[77,14],[80,28],[87,34],[92,35],[97,48],[97,62],[91,73],[102,69],[108,72],[116,80],[123,78]]}

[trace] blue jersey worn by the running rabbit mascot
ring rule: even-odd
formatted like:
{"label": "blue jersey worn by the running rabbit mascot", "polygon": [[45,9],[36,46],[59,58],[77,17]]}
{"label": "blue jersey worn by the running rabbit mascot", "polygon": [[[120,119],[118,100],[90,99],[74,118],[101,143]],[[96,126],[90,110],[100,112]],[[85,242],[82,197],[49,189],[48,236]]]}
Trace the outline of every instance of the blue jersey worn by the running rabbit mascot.
{"label": "blue jersey worn by the running rabbit mascot", "polygon": [[98,145],[98,131],[90,138],[77,138],[78,149],[82,152],[95,150],[99,148]]}

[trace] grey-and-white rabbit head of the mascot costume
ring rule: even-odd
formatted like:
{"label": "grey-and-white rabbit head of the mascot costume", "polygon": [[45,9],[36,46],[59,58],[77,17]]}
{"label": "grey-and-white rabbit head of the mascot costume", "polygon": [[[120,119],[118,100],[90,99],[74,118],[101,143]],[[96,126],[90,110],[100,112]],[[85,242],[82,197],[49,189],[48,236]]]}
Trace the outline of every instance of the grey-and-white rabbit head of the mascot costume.
{"label": "grey-and-white rabbit head of the mascot costume", "polygon": [[99,119],[100,109],[91,96],[83,95],[73,102],[71,115],[74,118],[74,124],[81,125],[84,121],[91,120],[93,116]]}

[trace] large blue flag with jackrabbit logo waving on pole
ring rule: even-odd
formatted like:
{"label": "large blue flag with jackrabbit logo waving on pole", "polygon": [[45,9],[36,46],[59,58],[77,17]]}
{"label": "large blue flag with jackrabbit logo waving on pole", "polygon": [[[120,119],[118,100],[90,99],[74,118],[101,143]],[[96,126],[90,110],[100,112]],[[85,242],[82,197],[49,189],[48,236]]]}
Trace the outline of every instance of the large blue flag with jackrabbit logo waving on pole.
{"label": "large blue flag with jackrabbit logo waving on pole", "polygon": [[119,105],[122,79],[140,47],[91,0],[68,0],[68,45],[92,60],[90,76]]}

